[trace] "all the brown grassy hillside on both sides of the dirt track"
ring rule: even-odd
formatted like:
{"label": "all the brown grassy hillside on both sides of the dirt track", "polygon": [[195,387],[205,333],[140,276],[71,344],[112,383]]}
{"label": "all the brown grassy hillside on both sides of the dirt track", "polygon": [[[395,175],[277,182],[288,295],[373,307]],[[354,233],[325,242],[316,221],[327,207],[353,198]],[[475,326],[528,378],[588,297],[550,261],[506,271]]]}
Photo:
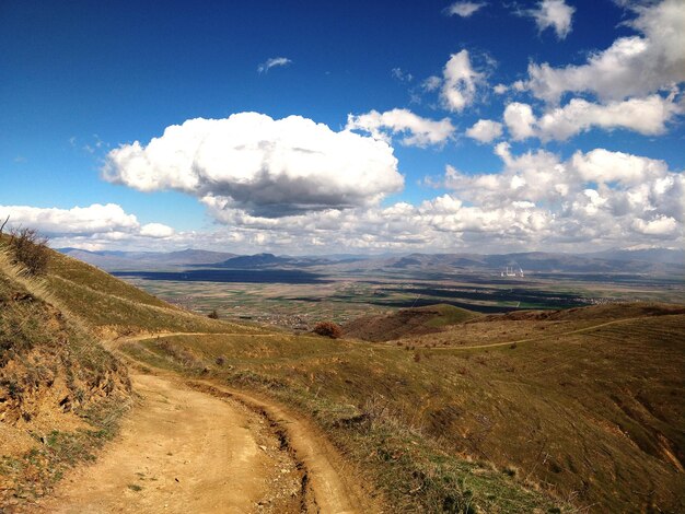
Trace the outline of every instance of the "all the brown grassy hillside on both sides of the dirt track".
{"label": "all the brown grassy hillside on both sides of the dirt track", "polygon": [[[63,255],[40,282],[5,265],[1,276],[5,503],[27,484],[49,491],[62,464],[114,433],[102,420],[117,418],[128,382],[96,334],[160,377],[311,420],[307,433],[330,441],[346,474],[392,512],[685,509],[681,306],[478,316],[439,305],[350,325],[393,340],[374,343],[212,320]],[[297,427],[269,419],[279,433]],[[315,466],[288,466],[316,477]]]}

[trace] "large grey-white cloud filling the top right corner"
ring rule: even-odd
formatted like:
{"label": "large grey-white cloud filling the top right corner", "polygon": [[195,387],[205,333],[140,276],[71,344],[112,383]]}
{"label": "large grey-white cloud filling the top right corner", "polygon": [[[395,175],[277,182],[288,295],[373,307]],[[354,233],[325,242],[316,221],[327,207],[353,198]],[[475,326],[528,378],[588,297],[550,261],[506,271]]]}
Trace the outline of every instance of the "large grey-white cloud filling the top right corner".
{"label": "large grey-white cloud filling the top right corner", "polygon": [[548,103],[557,103],[566,92],[590,92],[606,102],[646,96],[685,81],[683,1],[639,4],[634,11],[638,15],[628,25],[641,35],[616,39],[581,66],[531,63],[524,85]]}

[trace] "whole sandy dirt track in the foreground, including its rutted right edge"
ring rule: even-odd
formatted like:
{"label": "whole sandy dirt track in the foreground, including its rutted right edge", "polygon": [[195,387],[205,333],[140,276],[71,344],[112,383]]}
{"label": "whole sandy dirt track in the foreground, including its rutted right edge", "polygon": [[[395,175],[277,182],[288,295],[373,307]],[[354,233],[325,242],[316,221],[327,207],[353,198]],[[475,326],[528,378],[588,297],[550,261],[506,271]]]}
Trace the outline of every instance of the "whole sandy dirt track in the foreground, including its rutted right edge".
{"label": "whole sandy dirt track in the foreground, including its rutted right edge", "polygon": [[39,511],[379,512],[334,447],[282,407],[161,370],[129,370],[140,401],[119,435],[94,464],[68,474]]}

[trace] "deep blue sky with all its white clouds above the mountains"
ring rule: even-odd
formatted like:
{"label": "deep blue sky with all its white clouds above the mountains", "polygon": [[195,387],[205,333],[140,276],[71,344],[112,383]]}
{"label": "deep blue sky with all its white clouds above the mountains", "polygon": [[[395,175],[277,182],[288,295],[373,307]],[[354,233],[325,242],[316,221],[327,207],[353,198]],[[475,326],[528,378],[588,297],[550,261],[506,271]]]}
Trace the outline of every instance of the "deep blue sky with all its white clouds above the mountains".
{"label": "deep blue sky with all its white clouds above the mountains", "polygon": [[684,246],[685,0],[0,0],[0,48],[54,247]]}

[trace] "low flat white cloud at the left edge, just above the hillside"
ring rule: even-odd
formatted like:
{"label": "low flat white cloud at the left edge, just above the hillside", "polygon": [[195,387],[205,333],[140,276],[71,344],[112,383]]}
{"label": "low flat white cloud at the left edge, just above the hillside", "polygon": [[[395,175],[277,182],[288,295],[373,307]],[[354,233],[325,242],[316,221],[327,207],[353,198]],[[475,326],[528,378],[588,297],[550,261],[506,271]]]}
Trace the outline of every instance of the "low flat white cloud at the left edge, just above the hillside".
{"label": "low flat white cloud at the left edge, just above the hillside", "polygon": [[93,203],[72,209],[30,206],[0,206],[0,218],[10,217],[9,226],[30,226],[49,236],[147,236],[170,237],[174,230],[161,223],[141,226],[133,214],[116,203]]}

